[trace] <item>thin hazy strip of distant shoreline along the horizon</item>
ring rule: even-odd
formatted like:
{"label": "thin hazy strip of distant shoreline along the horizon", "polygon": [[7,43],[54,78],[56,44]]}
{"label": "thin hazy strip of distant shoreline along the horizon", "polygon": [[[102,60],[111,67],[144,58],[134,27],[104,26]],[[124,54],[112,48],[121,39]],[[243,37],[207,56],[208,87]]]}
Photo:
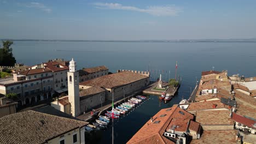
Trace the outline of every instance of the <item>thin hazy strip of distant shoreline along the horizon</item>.
{"label": "thin hazy strip of distant shoreline along the horizon", "polygon": [[256,43],[256,39],[184,39],[184,40],[40,40],[40,39],[1,39],[13,41],[73,41],[73,42],[138,42],[138,43],[220,43],[220,42],[235,42],[235,43]]}

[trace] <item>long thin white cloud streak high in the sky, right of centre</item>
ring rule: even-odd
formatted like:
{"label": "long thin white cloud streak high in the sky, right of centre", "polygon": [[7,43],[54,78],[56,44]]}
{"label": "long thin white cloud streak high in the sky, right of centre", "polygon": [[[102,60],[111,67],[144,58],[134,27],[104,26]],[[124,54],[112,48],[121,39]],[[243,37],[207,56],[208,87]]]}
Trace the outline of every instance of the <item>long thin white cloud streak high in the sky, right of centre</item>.
{"label": "long thin white cloud streak high in the sky, right of centre", "polygon": [[146,9],[140,9],[137,7],[124,6],[119,3],[93,3],[98,9],[119,9],[119,10],[130,10],[138,11],[141,13],[148,13],[155,16],[175,16],[178,13],[182,12],[181,8],[176,7],[175,5],[164,5],[164,6],[150,6]]}

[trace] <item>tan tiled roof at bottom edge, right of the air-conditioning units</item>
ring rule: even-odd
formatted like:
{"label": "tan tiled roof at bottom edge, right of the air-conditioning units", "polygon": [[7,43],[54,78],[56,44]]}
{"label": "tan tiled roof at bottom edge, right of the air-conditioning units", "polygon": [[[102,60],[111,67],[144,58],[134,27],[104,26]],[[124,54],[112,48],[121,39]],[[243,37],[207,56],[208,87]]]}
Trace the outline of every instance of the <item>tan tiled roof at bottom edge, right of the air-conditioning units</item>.
{"label": "tan tiled roof at bottom edge, right of the air-conditioning units", "polygon": [[207,130],[203,131],[199,140],[192,140],[190,144],[195,143],[236,143],[237,130]]}

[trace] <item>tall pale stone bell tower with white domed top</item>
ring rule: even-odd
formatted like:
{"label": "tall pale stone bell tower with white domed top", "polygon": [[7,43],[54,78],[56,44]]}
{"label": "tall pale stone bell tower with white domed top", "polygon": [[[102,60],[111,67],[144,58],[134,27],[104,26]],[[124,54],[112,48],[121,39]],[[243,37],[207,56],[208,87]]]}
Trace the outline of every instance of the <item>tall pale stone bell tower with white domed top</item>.
{"label": "tall pale stone bell tower with white domed top", "polygon": [[71,104],[71,115],[74,117],[80,114],[80,97],[79,97],[79,73],[77,63],[72,58],[69,62],[68,76],[68,101]]}

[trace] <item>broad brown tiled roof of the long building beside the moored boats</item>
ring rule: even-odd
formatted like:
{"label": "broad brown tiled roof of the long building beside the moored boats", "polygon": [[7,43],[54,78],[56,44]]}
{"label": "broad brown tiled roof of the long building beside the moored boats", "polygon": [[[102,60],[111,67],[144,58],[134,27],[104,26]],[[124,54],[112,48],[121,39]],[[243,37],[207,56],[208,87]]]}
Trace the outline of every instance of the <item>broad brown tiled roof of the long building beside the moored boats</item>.
{"label": "broad brown tiled roof of the long building beside the moored boats", "polygon": [[114,73],[111,75],[104,75],[92,79],[89,81],[81,82],[79,85],[91,86],[91,87],[104,87],[104,88],[114,88],[123,85],[127,85],[132,82],[136,82],[142,79],[146,79],[148,76],[132,73],[131,71],[123,71],[120,73]]}

